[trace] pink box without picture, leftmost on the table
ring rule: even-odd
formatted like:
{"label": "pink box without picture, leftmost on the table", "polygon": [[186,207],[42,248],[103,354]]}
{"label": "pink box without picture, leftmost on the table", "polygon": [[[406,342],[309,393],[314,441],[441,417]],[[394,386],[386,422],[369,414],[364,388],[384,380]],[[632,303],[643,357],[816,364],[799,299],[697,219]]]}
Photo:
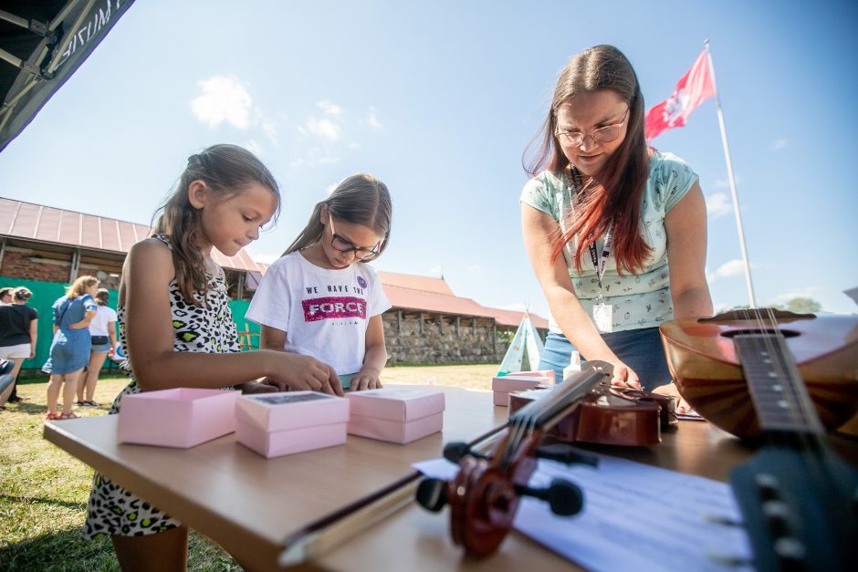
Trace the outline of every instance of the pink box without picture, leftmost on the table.
{"label": "pink box without picture, leftmost on the table", "polygon": [[122,396],[119,442],[187,449],[235,431],[240,391],[146,391]]}

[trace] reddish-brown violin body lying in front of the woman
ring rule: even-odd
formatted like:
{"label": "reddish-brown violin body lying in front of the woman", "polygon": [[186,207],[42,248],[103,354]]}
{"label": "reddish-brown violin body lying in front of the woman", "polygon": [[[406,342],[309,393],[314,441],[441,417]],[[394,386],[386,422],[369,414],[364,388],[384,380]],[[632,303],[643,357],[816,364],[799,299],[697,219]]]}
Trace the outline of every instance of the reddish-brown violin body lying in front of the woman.
{"label": "reddish-brown violin body lying in front of the woman", "polygon": [[[510,393],[510,415],[537,399],[541,391],[548,390]],[[660,443],[661,430],[675,423],[675,403],[670,397],[640,390],[597,388],[548,434],[560,442],[643,447]]]}

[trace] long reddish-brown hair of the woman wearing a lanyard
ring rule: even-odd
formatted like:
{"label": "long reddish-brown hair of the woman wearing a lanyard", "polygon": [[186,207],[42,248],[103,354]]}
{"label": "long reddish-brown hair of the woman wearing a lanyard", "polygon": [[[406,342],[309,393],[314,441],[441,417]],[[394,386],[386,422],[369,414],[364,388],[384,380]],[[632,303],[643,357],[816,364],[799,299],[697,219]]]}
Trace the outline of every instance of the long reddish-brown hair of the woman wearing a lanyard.
{"label": "long reddish-brown hair of the woman wearing a lanyard", "polygon": [[[557,112],[580,93],[611,89],[629,105],[626,135],[623,142],[596,173],[588,186],[586,198],[576,205],[567,221],[566,233],[554,239],[552,260],[575,235],[580,236],[575,248],[575,265],[581,272],[581,257],[596,237],[604,234],[613,221],[613,247],[617,271],[633,273],[643,267],[652,248],[639,231],[641,198],[649,175],[649,151],[643,132],[643,93],[637,74],[629,60],[616,47],[596,46],[572,57],[560,72],[551,109],[541,130],[528,144],[522,162],[530,176],[549,171],[562,176],[568,171],[569,159],[563,153],[555,132]],[[535,155],[528,160],[532,149]]]}

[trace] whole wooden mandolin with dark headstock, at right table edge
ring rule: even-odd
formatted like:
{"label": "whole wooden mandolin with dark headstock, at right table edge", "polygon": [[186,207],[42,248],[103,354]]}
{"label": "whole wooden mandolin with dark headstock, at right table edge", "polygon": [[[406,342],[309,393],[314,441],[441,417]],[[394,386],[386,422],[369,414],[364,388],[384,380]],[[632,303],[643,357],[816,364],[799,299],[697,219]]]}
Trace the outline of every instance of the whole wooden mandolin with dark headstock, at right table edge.
{"label": "whole wooden mandolin with dark headstock, at right table edge", "polygon": [[[833,572],[858,562],[858,472],[832,452],[821,422],[836,427],[853,414],[858,319],[832,318],[740,310],[662,326],[685,399],[708,421],[762,443],[730,473],[759,571]],[[802,364],[813,383],[802,380]],[[715,379],[717,371],[730,375]]]}

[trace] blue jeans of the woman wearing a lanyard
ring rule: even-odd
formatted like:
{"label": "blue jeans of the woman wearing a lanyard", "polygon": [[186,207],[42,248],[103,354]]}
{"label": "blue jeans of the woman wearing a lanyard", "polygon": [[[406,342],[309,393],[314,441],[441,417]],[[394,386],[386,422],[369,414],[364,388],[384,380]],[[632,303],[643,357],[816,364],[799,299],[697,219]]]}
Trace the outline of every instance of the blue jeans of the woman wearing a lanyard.
{"label": "blue jeans of the woman wearing a lanyard", "polygon": [[[658,328],[628,329],[622,332],[602,334],[617,358],[634,370],[641,380],[644,390],[671,382],[667,359],[664,358],[664,346]],[[574,346],[566,336],[549,331],[545,338],[545,348],[539,359],[539,369],[554,369],[558,383],[563,380],[563,368],[569,365]],[[587,359],[581,356],[581,361]]]}

